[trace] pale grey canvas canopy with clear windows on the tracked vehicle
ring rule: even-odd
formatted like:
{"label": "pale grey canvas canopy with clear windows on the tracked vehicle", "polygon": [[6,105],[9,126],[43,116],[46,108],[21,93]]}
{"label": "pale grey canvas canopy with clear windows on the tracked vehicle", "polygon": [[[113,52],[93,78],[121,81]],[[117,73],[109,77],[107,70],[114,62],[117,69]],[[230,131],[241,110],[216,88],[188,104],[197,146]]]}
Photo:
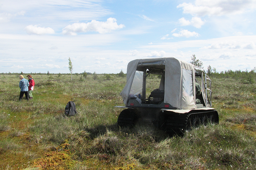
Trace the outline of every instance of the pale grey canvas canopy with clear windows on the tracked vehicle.
{"label": "pale grey canvas canopy with clear windows on the tracked vehicle", "polygon": [[162,75],[159,89],[164,90],[164,103],[177,109],[196,108],[195,86],[193,86],[195,69],[199,72],[204,71],[173,57],[133,60],[128,63],[127,83],[120,95],[124,104],[127,104],[129,96],[132,95],[140,95],[145,99],[145,75],[146,71],[151,71],[153,74]]}

